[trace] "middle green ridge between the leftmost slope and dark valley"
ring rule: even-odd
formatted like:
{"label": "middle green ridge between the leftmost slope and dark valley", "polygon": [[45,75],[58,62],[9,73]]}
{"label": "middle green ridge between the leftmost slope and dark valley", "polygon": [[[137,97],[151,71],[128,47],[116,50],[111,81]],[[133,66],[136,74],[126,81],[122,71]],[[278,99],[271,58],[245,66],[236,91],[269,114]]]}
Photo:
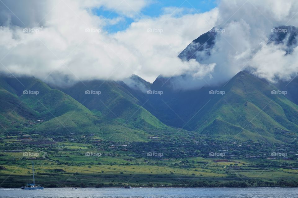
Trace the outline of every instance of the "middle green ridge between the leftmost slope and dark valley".
{"label": "middle green ridge between the leftmost slope and dark valley", "polygon": [[[155,134],[156,132],[175,131],[153,116],[129,91],[130,88],[115,81],[93,80],[75,84],[70,88],[62,89],[97,115],[110,118],[120,123]],[[85,94],[85,91],[100,91],[100,94]]]}

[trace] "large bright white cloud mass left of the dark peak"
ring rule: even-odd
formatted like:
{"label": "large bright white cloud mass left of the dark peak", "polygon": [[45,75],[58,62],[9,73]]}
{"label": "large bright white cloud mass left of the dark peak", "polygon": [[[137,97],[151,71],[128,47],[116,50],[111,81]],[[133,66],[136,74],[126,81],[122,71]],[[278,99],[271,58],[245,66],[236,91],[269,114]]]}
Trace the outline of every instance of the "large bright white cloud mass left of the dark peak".
{"label": "large bright white cloud mass left of the dark peak", "polygon": [[[178,53],[217,19],[216,9],[180,18],[167,14],[139,19],[125,31],[108,34],[104,31],[106,19],[89,10],[99,5],[109,9],[113,5],[117,7],[109,2],[64,0],[53,6],[51,1],[48,2],[52,5],[49,6],[51,11],[42,25],[36,22],[40,17],[35,19],[33,14],[28,23],[31,26],[13,21],[1,26],[0,56],[5,57],[1,61],[5,67],[1,70],[34,75],[55,83],[61,81],[61,75],[78,81],[118,80],[131,74],[152,82],[160,74],[170,76],[189,68],[189,64],[177,58]],[[137,7],[133,11],[139,11],[144,5],[136,3],[134,6]],[[125,13],[129,11],[128,7],[122,9]],[[21,14],[17,9],[14,11],[16,15]],[[148,31],[150,28],[152,32]]]}

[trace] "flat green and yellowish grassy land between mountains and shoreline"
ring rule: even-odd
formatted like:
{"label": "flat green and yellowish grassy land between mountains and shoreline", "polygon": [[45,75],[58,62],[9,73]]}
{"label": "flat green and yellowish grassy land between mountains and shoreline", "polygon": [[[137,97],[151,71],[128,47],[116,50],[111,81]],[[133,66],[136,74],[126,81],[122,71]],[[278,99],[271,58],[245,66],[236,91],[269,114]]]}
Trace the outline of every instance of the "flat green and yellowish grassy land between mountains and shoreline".
{"label": "flat green and yellowish grassy land between mountains and shoreline", "polygon": [[[166,149],[163,150],[165,156],[154,157],[147,156],[147,152],[134,151],[139,149],[133,143],[98,143],[97,139],[52,142],[42,147],[37,146],[38,142],[34,143],[27,144],[12,138],[1,140],[1,187],[20,187],[31,183],[32,161],[36,183],[45,187],[120,187],[128,184],[192,187],[199,184],[220,186],[228,182],[276,186],[281,179],[298,181],[295,157],[187,157],[187,154],[168,157]],[[146,146],[150,144],[141,147]],[[181,149],[186,152],[187,146]],[[204,153],[202,149],[197,152],[198,155]]]}

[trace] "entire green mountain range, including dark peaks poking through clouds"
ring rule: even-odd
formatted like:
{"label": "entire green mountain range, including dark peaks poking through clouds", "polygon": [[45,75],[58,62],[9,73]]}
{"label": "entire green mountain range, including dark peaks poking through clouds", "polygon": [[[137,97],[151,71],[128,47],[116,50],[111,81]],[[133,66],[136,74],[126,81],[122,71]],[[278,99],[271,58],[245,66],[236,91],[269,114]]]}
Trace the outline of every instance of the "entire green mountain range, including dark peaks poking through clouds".
{"label": "entire green mountain range, including dark peaks poking through clouds", "polygon": [[[297,28],[273,37],[296,43]],[[179,58],[203,61],[216,37],[209,31],[189,44]],[[286,38],[287,37],[287,38]],[[198,134],[265,142],[290,142],[298,132],[298,78],[271,84],[240,71],[228,82],[194,89],[175,87],[158,76],[151,84],[137,75],[123,81],[90,80],[56,87],[34,77],[0,77],[1,133],[40,131],[94,134],[114,141],[149,141],[152,136]]]}

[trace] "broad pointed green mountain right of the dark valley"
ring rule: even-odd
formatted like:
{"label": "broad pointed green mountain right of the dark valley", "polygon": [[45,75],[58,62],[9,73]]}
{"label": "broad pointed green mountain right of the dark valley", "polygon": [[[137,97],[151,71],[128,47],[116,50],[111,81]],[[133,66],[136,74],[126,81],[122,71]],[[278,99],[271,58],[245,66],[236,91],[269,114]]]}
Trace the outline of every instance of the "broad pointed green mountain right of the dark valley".
{"label": "broad pointed green mountain right of the dark valley", "polygon": [[196,131],[265,141],[290,140],[289,135],[298,131],[298,106],[283,95],[271,94],[277,88],[267,82],[240,72],[224,90],[223,96],[210,95],[204,114],[192,119]]}

